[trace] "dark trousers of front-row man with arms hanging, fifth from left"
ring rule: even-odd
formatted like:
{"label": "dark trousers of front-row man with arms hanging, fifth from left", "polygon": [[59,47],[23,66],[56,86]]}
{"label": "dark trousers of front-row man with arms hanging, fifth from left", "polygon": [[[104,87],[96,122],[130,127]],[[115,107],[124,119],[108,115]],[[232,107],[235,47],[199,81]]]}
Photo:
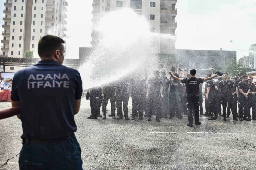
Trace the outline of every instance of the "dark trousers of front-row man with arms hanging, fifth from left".
{"label": "dark trousers of front-row man with arms hanging, fifth from left", "polygon": [[153,112],[156,111],[156,118],[160,117],[161,114],[161,105],[160,105],[160,96],[150,96],[150,103],[149,103],[149,117],[151,118]]}

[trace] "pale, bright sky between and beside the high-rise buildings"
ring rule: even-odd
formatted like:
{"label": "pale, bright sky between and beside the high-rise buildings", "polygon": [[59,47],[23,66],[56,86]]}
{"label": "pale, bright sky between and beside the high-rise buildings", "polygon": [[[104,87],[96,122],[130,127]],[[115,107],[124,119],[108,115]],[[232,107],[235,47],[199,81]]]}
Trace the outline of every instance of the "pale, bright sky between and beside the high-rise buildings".
{"label": "pale, bright sky between and beside the high-rise buildings", "polygon": [[[67,1],[66,35],[70,38],[66,58],[75,59],[79,47],[91,47],[93,0]],[[0,0],[0,18],[4,16],[3,2]],[[233,40],[238,60],[248,55],[250,45],[256,43],[255,0],[177,0],[176,8],[177,49],[233,50]]]}

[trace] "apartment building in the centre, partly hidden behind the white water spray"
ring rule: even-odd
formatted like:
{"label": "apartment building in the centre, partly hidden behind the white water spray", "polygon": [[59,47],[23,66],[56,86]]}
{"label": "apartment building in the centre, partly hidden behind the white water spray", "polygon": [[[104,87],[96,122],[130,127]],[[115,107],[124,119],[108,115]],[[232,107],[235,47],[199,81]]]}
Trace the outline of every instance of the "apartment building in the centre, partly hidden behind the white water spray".
{"label": "apartment building in the centre, partly hidden behind the white water spray", "polygon": [[[175,54],[176,3],[177,0],[93,0],[92,48],[97,48],[100,40],[100,32],[95,29],[100,19],[111,11],[129,8],[148,19],[151,32],[159,33],[159,38],[153,39],[151,43],[154,48],[152,51],[159,54]],[[164,38],[161,34],[170,34],[173,38]]]}

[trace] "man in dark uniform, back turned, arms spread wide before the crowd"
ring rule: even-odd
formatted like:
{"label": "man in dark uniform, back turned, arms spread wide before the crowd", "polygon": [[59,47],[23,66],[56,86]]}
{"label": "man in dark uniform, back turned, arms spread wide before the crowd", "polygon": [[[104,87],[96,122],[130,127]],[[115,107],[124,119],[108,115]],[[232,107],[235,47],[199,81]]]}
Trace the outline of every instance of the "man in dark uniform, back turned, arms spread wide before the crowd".
{"label": "man in dark uniform, back turned, arms spread wide before the crowd", "polygon": [[196,70],[191,69],[190,70],[190,78],[178,78],[175,75],[169,71],[170,75],[175,79],[179,80],[182,83],[186,84],[186,91],[187,91],[187,107],[188,107],[188,124],[187,126],[192,127],[193,125],[193,108],[195,110],[195,124],[200,125],[201,122],[199,122],[199,84],[203,83],[203,81],[211,80],[212,78],[216,77],[217,75],[213,75],[208,78],[196,78]]}

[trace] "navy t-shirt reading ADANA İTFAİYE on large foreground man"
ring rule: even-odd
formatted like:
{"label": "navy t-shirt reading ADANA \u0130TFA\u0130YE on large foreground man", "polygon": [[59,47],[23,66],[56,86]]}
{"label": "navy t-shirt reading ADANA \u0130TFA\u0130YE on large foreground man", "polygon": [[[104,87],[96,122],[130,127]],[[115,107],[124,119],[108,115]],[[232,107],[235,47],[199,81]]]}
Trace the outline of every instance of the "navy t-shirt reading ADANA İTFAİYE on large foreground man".
{"label": "navy t-shirt reading ADANA \u0130TFA\u0130YE on large foreground man", "polygon": [[75,100],[81,99],[80,73],[54,60],[42,60],[18,71],[12,101],[20,102],[23,136],[57,139],[73,134]]}

